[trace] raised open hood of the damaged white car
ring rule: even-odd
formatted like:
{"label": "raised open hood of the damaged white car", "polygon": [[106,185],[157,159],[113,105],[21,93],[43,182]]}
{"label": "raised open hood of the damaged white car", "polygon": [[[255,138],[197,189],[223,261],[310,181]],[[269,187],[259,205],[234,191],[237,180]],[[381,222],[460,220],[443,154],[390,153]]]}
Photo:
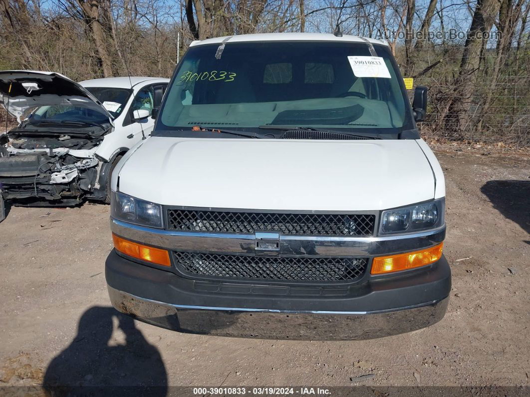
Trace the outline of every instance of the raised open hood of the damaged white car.
{"label": "raised open hood of the damaged white car", "polygon": [[22,113],[31,107],[73,104],[106,114],[112,124],[109,112],[90,92],[59,73],[0,71],[0,104],[19,123]]}

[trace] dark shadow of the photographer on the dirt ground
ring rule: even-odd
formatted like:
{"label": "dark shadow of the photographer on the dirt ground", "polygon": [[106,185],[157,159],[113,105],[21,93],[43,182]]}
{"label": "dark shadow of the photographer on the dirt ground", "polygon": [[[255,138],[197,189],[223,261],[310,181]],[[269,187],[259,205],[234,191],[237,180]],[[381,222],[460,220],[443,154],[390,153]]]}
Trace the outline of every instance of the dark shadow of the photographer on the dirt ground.
{"label": "dark shadow of the photographer on the dirt ground", "polygon": [[[125,343],[109,346],[113,318]],[[43,380],[47,395],[167,394],[167,374],[158,349],[131,317],[113,307],[89,308],[79,320],[77,336],[51,360]]]}

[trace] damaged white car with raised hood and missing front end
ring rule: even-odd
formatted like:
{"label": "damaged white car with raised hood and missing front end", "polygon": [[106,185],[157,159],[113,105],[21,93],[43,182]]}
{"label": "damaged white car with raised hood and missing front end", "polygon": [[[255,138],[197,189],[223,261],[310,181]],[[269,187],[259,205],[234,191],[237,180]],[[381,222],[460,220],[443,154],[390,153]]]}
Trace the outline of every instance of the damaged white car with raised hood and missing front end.
{"label": "damaged white car with raised hood and missing front end", "polygon": [[109,202],[112,168],[151,134],[168,82],[114,77],[76,83],[58,73],[0,72],[0,103],[19,122],[0,135],[0,201]]}

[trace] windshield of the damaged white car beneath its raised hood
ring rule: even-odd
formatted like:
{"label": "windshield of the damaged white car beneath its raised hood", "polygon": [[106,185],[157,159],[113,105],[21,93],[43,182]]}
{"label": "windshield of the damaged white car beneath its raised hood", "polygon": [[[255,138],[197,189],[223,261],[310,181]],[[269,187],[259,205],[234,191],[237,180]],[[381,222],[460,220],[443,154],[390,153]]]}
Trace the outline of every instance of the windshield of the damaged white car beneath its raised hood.
{"label": "windshield of the damaged white car beneath its raised hood", "polygon": [[76,105],[46,105],[29,108],[22,114],[21,120],[25,126],[39,123],[89,123],[104,124],[109,123],[107,114],[101,111]]}

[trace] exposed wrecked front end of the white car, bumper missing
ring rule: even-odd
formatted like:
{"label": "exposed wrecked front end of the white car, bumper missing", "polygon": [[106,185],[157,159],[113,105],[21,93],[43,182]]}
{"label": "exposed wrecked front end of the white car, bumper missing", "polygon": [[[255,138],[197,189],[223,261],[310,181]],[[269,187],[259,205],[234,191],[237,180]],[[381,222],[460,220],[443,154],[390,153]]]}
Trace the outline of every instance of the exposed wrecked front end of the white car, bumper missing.
{"label": "exposed wrecked front end of the white car, bumper missing", "polygon": [[[0,189],[19,205],[75,205],[100,189],[101,138],[24,136],[11,131],[0,147]],[[97,195],[97,192],[96,192]]]}

